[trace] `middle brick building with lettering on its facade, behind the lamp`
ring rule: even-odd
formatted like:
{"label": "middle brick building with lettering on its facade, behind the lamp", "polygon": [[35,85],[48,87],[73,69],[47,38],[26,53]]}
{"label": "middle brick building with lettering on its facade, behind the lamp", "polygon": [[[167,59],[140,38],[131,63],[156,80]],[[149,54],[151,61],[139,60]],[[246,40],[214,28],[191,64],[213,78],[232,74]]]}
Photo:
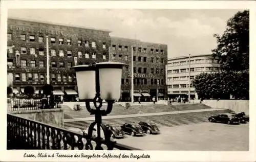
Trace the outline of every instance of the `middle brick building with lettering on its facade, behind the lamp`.
{"label": "middle brick building with lettering on its facade, behind the lamp", "polygon": [[[133,50],[133,58],[132,58]],[[142,42],[136,39],[111,37],[110,60],[124,62],[122,73],[121,99],[131,97],[131,62],[134,71],[134,99],[150,101],[152,97],[167,96],[165,86],[165,64],[167,63],[167,45]],[[158,94],[157,94],[158,89]]]}

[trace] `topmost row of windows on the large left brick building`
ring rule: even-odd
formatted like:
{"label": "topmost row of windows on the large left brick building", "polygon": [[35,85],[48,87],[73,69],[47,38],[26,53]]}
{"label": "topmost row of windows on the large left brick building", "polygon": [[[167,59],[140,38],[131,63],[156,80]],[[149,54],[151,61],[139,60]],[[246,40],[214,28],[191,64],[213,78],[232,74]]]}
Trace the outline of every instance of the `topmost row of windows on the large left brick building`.
{"label": "topmost row of windows on the large left brick building", "polygon": [[[8,33],[7,37],[8,37],[8,40],[12,40],[12,34],[11,33]],[[20,37],[20,40],[24,40],[24,41],[27,40],[27,35],[26,34],[20,34],[19,37]],[[34,35],[30,35],[28,40],[30,42],[34,42],[35,41],[35,36]],[[51,44],[58,43],[58,44],[61,45],[61,44],[66,43],[66,45],[72,45],[72,40],[71,39],[64,40],[63,38],[58,38],[58,41],[56,41],[56,40],[57,40],[56,38],[51,37],[49,42]],[[44,42],[44,37],[43,36],[38,36],[38,42],[43,43]],[[77,40],[77,45],[80,46],[80,47],[81,46],[90,47],[88,40],[85,40],[84,42],[82,42],[82,40]],[[91,42],[91,47],[92,48],[96,48],[96,42],[95,41]],[[106,43],[105,42],[102,42],[102,48],[106,49]]]}

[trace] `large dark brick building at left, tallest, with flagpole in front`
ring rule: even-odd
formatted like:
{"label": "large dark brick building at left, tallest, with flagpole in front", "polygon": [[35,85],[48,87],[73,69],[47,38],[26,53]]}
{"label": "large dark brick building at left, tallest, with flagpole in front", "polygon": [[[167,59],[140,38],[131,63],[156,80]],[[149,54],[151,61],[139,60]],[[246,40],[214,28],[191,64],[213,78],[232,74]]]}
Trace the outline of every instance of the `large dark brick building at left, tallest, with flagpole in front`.
{"label": "large dark brick building at left, tallest, with flagpole in front", "polygon": [[77,94],[76,64],[109,60],[110,31],[8,18],[8,74],[13,91],[47,83],[46,37],[49,37],[50,84],[55,95]]}

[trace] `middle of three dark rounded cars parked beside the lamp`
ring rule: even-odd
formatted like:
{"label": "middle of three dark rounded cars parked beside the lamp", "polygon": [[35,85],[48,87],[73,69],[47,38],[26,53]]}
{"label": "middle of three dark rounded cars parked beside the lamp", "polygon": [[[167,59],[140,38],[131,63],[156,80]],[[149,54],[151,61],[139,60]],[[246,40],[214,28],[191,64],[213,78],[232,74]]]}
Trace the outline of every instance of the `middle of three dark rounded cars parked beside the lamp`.
{"label": "middle of three dark rounded cars parked beside the lamp", "polygon": [[124,133],[130,134],[132,136],[144,135],[144,131],[138,123],[125,123],[121,126],[121,128]]}

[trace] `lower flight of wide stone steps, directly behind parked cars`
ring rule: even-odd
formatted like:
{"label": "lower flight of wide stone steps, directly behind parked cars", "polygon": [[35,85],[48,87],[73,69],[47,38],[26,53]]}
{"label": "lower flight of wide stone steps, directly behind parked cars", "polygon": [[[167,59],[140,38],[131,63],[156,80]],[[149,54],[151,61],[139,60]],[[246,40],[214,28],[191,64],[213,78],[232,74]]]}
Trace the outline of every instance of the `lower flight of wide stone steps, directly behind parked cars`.
{"label": "lower flight of wide stone steps, directly behind parked cars", "polygon": [[[147,115],[141,117],[127,117],[127,118],[115,118],[115,119],[102,119],[104,124],[110,125],[123,125],[126,122],[140,122],[140,121],[151,121],[154,122],[158,127],[169,127],[176,125],[184,125],[191,123],[200,123],[208,121],[210,115],[216,115],[219,113],[231,112],[228,109],[211,110],[211,111],[199,111],[199,112],[184,112],[174,114],[161,114],[161,115]],[[65,122],[65,128],[74,127],[81,130],[86,129],[93,122],[90,121],[69,121]]]}

